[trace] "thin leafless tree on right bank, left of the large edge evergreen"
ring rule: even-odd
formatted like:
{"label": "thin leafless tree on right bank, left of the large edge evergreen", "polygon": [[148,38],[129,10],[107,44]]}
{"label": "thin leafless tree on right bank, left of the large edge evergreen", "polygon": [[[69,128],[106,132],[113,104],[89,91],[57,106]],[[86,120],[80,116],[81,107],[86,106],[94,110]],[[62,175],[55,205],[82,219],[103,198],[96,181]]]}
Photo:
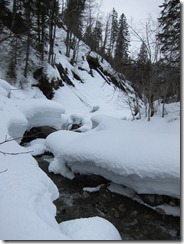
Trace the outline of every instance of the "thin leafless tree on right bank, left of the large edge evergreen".
{"label": "thin leafless tree on right bank, left of the large edge evergreen", "polygon": [[160,63],[159,42],[157,34],[158,25],[155,25],[151,16],[144,23],[144,31],[136,30],[130,26],[134,37],[141,42],[137,59],[129,67],[128,79],[134,83],[136,91],[145,105],[145,116],[148,121],[154,115],[154,101],[161,96],[160,92]]}

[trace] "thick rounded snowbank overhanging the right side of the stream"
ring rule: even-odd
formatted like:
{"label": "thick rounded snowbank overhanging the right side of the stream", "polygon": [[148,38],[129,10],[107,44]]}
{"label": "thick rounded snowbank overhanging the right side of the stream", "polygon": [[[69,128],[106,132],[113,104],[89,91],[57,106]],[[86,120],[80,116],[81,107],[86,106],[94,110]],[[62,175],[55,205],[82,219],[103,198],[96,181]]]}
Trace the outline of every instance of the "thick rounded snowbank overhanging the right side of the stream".
{"label": "thick rounded snowbank overhanging the right side of the stream", "polygon": [[107,116],[92,119],[96,124],[93,131],[60,131],[48,136],[46,146],[55,155],[51,171],[66,177],[72,172],[97,174],[137,193],[180,197],[178,120],[169,123],[153,119],[148,123]]}

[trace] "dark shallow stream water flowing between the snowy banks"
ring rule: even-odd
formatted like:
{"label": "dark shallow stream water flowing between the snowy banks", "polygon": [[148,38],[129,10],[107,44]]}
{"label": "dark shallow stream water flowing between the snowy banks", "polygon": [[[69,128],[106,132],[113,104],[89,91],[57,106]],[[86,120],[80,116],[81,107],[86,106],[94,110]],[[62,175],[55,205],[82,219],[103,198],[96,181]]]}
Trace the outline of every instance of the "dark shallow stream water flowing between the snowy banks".
{"label": "dark shallow stream water flowing between the snowy banks", "polygon": [[[80,176],[69,180],[49,173],[44,157],[36,157],[39,166],[53,180],[60,197],[57,207],[58,223],[76,218],[99,216],[109,220],[119,231],[122,240],[180,240],[180,218],[163,216],[130,198],[112,193],[109,182],[100,176]],[[88,193],[84,187],[103,186]]]}

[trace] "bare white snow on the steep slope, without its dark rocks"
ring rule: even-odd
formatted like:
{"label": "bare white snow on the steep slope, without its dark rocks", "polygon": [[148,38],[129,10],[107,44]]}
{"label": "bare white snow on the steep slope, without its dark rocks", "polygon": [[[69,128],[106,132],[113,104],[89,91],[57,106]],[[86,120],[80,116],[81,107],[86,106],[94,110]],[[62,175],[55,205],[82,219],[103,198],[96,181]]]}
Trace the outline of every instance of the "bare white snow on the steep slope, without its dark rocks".
{"label": "bare white snow on the steep slope, without its dark rocks", "polygon": [[[63,68],[67,69],[68,77],[75,87],[64,84],[64,87],[55,91],[53,100],[62,104],[67,114],[75,114],[76,112],[85,114],[93,110],[94,107],[99,107],[100,113],[106,115],[110,113],[115,117],[130,118],[132,116],[131,111],[129,105],[125,102],[127,95],[113,84],[108,84],[97,71],[93,70],[93,76],[91,76],[86,56],[90,53],[90,56],[98,58],[96,53],[89,52],[89,48],[81,42],[76,66],[72,66],[69,62],[70,59],[62,54],[65,52],[65,46],[63,47],[65,35],[64,30],[59,29],[57,31],[56,63],[61,63]],[[113,69],[106,61],[100,64],[104,70],[113,72]],[[73,77],[72,71],[80,74],[82,82]],[[131,91],[131,87],[128,87]]]}

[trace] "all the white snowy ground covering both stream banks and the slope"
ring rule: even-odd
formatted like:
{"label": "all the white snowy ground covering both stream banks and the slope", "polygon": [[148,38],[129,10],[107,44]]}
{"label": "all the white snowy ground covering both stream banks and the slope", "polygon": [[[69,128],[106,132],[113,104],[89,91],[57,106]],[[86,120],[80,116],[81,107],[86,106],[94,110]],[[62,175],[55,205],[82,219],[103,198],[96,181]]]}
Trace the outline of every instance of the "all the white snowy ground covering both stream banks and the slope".
{"label": "all the white snowy ground covering both stream banks and the slope", "polygon": [[[180,198],[180,105],[166,105],[165,118],[158,106],[150,122],[132,121],[127,96],[96,71],[92,77],[82,52],[78,65],[83,71],[75,72],[84,84],[73,78],[74,67],[60,54],[61,44],[56,48],[56,60],[68,69],[75,87],[60,88],[52,101],[37,88],[17,90],[0,79],[0,239],[120,240],[116,228],[98,216],[58,224],[53,204],[58,189],[32,155],[50,150],[55,156],[50,171],[68,178],[75,172],[100,174],[122,194],[131,195],[120,185],[135,193]],[[57,70],[48,67],[51,74],[57,76]],[[69,131],[72,124],[80,124],[82,133]],[[62,130],[27,147],[18,144],[26,130],[46,125]],[[178,209],[162,207],[179,215]]]}

